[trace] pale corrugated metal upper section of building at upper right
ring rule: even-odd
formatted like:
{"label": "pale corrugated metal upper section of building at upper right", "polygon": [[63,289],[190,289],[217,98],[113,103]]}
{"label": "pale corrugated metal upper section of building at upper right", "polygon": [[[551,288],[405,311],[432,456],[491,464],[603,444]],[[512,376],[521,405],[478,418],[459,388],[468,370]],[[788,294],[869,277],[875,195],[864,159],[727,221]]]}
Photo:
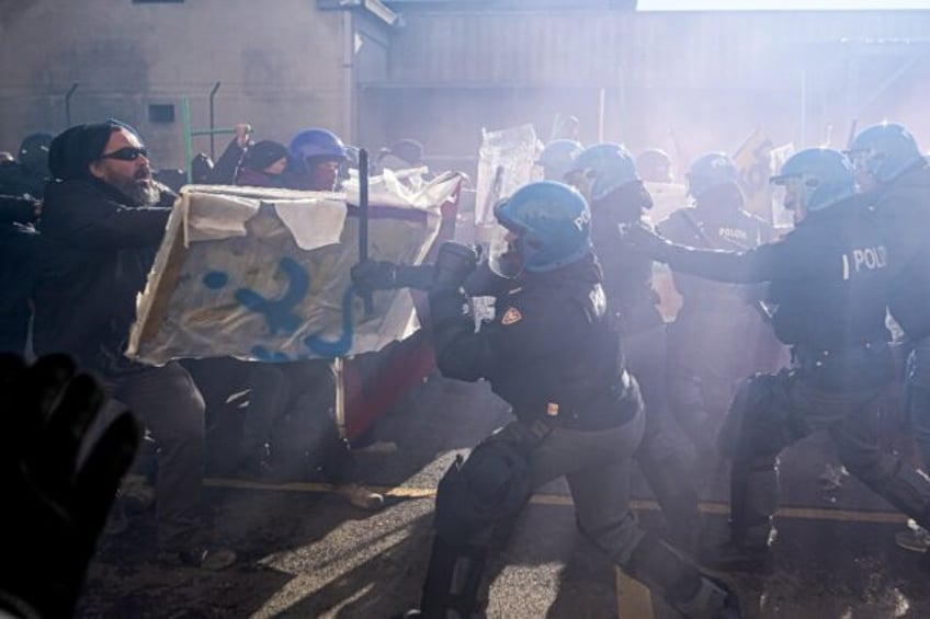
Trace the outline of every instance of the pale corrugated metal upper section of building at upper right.
{"label": "pale corrugated metal upper section of building at upper right", "polygon": [[925,11],[436,11],[404,19],[390,49],[389,79],[410,83],[610,88],[622,73],[625,83],[637,85],[727,79],[753,88],[860,53],[850,42],[897,41],[896,53],[921,53],[926,46],[915,42],[930,33]]}

